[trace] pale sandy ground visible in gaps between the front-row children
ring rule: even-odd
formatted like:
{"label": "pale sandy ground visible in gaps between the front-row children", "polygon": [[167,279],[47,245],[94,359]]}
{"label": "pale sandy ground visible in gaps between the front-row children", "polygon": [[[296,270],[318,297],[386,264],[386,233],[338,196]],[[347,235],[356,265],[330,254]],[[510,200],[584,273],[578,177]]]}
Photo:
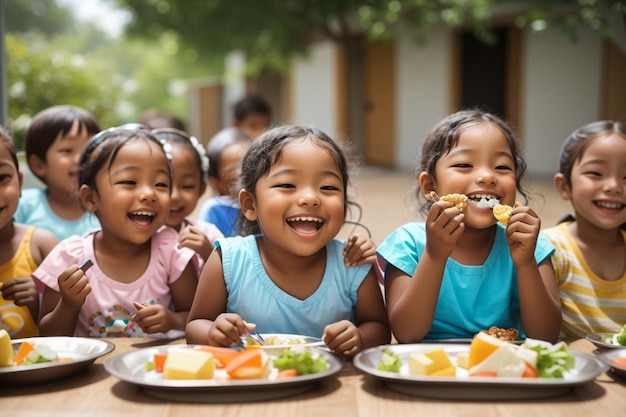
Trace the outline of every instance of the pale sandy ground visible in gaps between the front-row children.
{"label": "pale sandy ground visible in gaps between the front-row children", "polygon": [[[352,175],[351,181],[352,199],[363,208],[361,223],[370,229],[376,243],[398,226],[422,218],[414,197],[415,180],[411,172],[364,167]],[[570,211],[569,202],[556,193],[551,177],[531,177],[527,184],[533,193],[530,206],[541,217],[544,228],[554,225]],[[210,195],[207,191],[205,198]],[[352,227],[346,234],[350,231]]]}

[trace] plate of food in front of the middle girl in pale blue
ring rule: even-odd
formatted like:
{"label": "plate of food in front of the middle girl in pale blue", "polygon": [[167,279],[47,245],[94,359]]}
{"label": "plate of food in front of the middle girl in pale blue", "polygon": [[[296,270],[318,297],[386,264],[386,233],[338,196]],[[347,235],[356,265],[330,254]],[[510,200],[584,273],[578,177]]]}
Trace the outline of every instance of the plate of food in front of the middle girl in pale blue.
{"label": "plate of food in front of the middle girl in pale blue", "polygon": [[228,403],[292,396],[315,387],[343,368],[327,350],[297,346],[280,352],[172,345],[126,352],[104,362],[122,381],[148,395],[187,402]]}

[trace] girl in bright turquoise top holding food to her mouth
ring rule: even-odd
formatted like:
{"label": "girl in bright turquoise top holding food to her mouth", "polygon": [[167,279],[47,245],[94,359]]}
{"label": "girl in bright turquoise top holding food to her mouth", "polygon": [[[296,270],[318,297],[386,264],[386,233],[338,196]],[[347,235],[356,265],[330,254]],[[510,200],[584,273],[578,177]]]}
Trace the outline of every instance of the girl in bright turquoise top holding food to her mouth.
{"label": "girl in bright turquoise top holding food to her mouth", "polygon": [[[461,213],[443,199],[433,202],[424,223],[400,227],[379,246],[399,342],[471,338],[491,326],[557,339],[554,248],[538,239],[534,211],[515,203],[517,191],[526,198],[525,170],[517,138],[491,114],[457,112],[426,136],[417,170],[421,194],[465,194],[468,205]],[[506,228],[481,199],[516,206]]]}

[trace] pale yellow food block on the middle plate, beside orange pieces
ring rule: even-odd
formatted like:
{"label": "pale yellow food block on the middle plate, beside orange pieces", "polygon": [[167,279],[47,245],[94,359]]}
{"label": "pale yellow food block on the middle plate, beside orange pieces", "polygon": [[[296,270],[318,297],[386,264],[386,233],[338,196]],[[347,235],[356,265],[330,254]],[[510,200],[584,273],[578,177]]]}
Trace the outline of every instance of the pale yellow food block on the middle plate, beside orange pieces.
{"label": "pale yellow food block on the middle plate, beside orange pieces", "polygon": [[210,352],[194,349],[171,349],[163,367],[164,379],[211,379],[215,359]]}

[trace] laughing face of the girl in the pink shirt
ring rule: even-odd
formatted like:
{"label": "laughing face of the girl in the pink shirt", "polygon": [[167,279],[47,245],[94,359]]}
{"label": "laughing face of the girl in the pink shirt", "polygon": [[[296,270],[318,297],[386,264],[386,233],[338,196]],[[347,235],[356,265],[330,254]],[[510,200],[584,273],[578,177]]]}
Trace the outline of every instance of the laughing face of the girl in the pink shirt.
{"label": "laughing face of the girl in the pink shirt", "polygon": [[165,224],[170,210],[170,177],[158,144],[132,138],[109,166],[96,174],[96,189],[82,185],[83,205],[100,220],[103,235],[141,244]]}

